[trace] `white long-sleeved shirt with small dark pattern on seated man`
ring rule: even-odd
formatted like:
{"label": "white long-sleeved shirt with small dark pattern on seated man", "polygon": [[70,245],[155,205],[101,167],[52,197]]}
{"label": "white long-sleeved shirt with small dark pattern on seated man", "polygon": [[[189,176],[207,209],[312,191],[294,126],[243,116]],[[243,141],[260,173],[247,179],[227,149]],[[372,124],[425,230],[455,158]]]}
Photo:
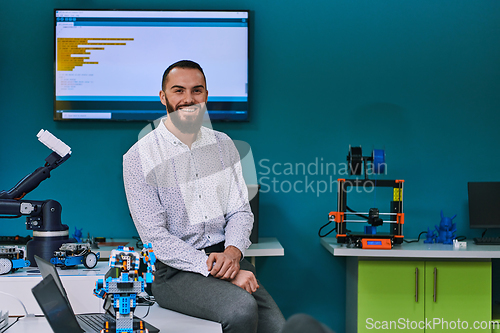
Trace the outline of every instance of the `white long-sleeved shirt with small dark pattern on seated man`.
{"label": "white long-sleeved shirt with small dark pattern on seated man", "polygon": [[163,121],[123,156],[128,206],[143,243],[168,266],[208,276],[202,250],[225,242],[242,256],[253,214],[238,151],[202,127],[191,149]]}

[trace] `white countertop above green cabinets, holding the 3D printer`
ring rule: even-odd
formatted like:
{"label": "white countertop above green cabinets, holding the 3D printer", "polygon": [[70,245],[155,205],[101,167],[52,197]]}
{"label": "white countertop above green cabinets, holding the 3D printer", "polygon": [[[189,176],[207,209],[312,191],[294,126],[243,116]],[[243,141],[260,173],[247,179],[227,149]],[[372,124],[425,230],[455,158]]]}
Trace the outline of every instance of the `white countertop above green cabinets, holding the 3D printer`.
{"label": "white countertop above green cabinets, holding the 3D printer", "polygon": [[467,242],[466,249],[453,249],[453,245],[427,244],[421,240],[418,243],[403,243],[395,245],[391,250],[371,250],[348,248],[337,244],[336,238],[324,237],[320,240],[334,256],[345,257],[378,257],[378,258],[443,258],[443,259],[492,259],[500,258],[500,245],[476,245]]}

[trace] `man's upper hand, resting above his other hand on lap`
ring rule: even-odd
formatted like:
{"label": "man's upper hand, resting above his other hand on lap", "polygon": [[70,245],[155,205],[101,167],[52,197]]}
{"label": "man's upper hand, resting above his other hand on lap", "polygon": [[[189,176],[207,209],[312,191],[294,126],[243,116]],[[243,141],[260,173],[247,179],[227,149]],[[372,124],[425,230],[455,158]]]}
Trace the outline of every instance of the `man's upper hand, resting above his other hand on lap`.
{"label": "man's upper hand, resting above his other hand on lap", "polygon": [[232,280],[240,271],[241,252],[237,247],[228,246],[224,252],[212,252],[207,259],[210,274],[222,280]]}

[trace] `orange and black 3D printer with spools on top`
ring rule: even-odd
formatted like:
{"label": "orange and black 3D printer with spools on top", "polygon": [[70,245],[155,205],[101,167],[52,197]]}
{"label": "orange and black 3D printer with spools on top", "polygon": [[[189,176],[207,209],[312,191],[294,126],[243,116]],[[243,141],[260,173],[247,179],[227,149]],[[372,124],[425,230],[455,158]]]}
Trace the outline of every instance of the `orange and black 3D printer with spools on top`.
{"label": "orange and black 3D printer with spools on top", "polygon": [[[338,179],[337,211],[330,212],[329,221],[335,222],[337,243],[347,244],[363,249],[392,249],[394,244],[403,243],[403,185],[404,180],[370,180],[368,179],[368,164],[373,174],[385,171],[385,152],[374,149],[371,156],[362,156],[361,147],[349,147],[347,155],[350,175],[361,175],[364,170],[365,179]],[[364,165],[364,167],[363,167]],[[350,188],[392,187],[393,198],[390,202],[390,212],[381,213],[378,208],[370,208],[368,212],[356,212],[347,206],[347,194]],[[354,219],[354,217],[360,217]],[[386,218],[385,220],[382,218]],[[388,218],[388,219],[387,219]],[[347,222],[368,222],[364,233],[353,233],[347,230]],[[383,223],[390,223],[389,233],[377,233],[376,228]]]}

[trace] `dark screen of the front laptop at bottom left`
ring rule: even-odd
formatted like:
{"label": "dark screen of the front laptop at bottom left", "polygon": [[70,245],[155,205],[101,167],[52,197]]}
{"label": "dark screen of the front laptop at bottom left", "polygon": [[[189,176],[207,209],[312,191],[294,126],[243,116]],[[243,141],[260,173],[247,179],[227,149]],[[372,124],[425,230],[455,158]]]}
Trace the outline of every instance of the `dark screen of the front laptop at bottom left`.
{"label": "dark screen of the front laptop at bottom left", "polygon": [[54,333],[83,332],[52,275],[44,277],[32,292]]}

